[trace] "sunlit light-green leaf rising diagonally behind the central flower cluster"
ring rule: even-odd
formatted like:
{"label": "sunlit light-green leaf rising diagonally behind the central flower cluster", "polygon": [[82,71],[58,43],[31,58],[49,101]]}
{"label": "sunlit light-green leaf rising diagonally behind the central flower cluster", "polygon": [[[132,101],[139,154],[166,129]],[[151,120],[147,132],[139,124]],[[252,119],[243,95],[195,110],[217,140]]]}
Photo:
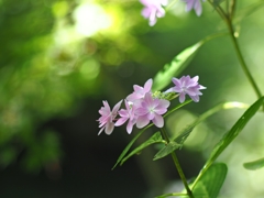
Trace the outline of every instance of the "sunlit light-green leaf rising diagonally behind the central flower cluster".
{"label": "sunlit light-green leaf rising diagonally behind the central flower cluster", "polygon": [[163,70],[158,72],[154,77],[152,89],[162,90],[165,88],[172,81],[172,78],[177,76],[189,64],[202,44],[204,42],[198,42],[191,45],[176,55],[170,64],[166,64]]}

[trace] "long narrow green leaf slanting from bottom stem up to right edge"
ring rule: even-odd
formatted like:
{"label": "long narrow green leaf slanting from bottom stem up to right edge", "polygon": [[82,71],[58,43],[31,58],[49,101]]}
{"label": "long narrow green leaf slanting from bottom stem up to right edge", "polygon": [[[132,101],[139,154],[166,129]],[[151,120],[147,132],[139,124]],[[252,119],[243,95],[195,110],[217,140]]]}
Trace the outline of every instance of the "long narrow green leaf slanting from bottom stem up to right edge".
{"label": "long narrow green leaf slanting from bottom stem up to right edge", "polygon": [[260,98],[254,102],[244,113],[243,116],[235,122],[235,124],[228,131],[220,142],[212,150],[209,158],[207,160],[204,168],[200,174],[196,178],[194,186],[200,179],[200,177],[207,172],[210,165],[217,160],[217,157],[227,148],[227,146],[240,134],[240,132],[244,129],[245,124],[250,121],[250,119],[256,113],[260,107],[263,105],[264,97]]}

